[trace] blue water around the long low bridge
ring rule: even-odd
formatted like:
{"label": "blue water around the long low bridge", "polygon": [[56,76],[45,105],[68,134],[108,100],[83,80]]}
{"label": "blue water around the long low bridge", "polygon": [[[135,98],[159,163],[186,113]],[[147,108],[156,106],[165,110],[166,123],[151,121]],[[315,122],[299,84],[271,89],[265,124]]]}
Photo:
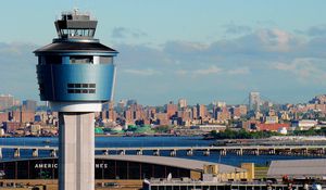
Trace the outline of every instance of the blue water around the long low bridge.
{"label": "blue water around the long low bridge", "polygon": [[[202,140],[201,137],[97,137],[97,148],[128,148],[128,147],[203,147],[213,143],[213,140]],[[54,137],[22,137],[22,138],[1,138],[0,145],[49,145],[58,147],[58,138]],[[49,156],[49,151],[39,151],[39,156]],[[111,154],[116,152],[110,152]],[[135,152],[126,152],[135,154]],[[146,155],[152,155],[152,151],[143,151]],[[161,151],[162,156],[168,156],[168,151]],[[32,157],[32,150],[21,150],[22,157]],[[289,155],[242,155],[228,153],[221,156],[218,152],[211,152],[210,156],[204,156],[201,151],[195,151],[192,156],[187,156],[186,151],[178,151],[177,157],[193,159],[223,163],[239,166],[241,163],[253,162],[258,165],[266,165],[273,160],[296,160],[296,159],[319,159],[317,156],[289,156]],[[13,150],[3,150],[3,159],[13,159]]]}

